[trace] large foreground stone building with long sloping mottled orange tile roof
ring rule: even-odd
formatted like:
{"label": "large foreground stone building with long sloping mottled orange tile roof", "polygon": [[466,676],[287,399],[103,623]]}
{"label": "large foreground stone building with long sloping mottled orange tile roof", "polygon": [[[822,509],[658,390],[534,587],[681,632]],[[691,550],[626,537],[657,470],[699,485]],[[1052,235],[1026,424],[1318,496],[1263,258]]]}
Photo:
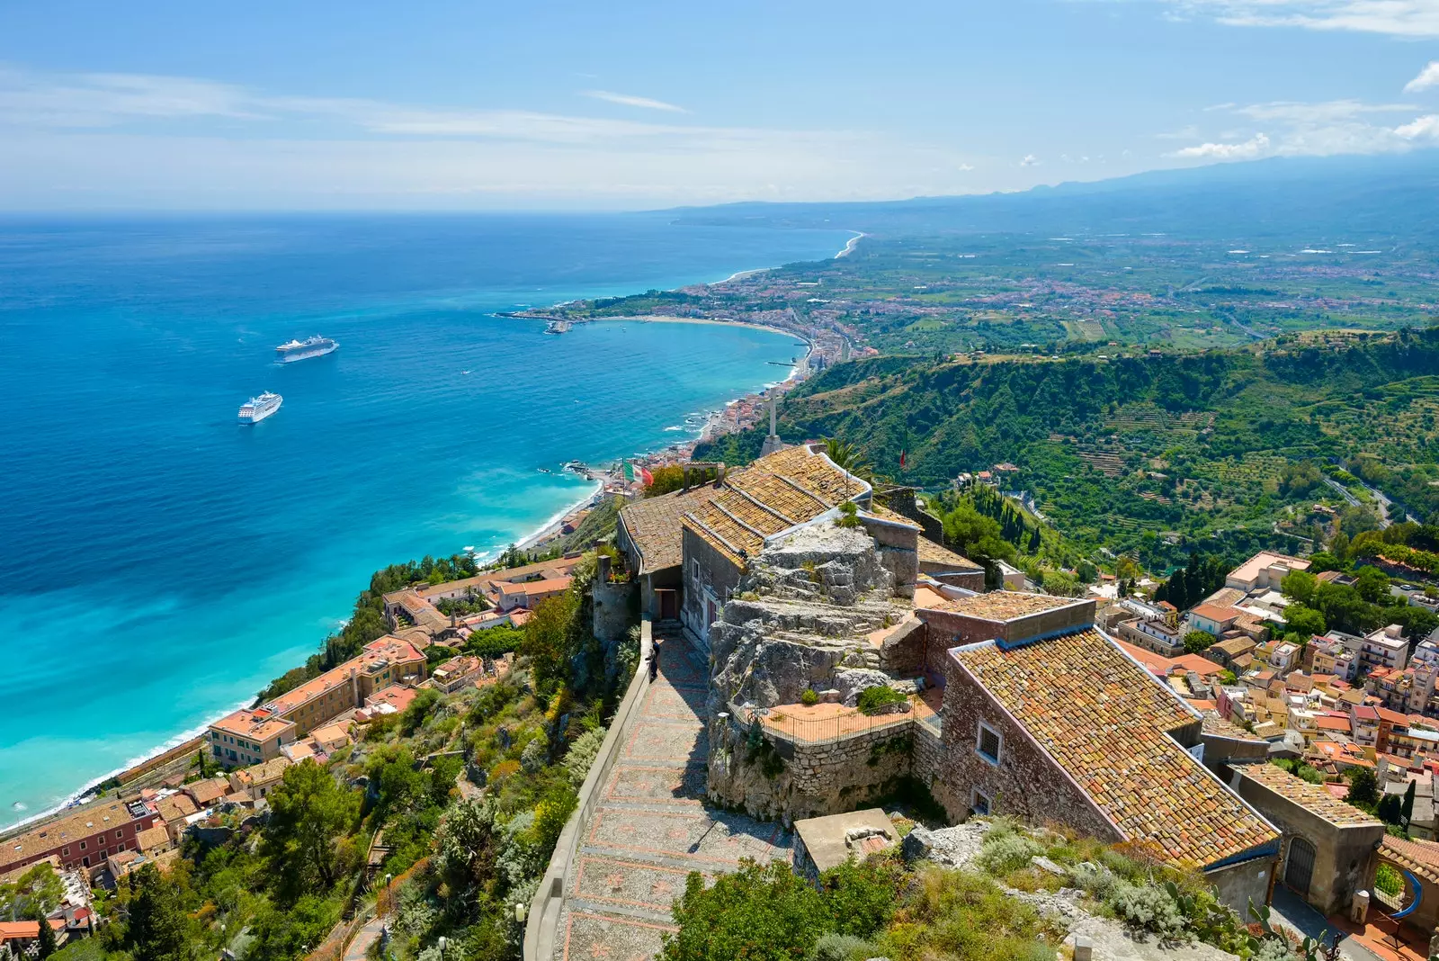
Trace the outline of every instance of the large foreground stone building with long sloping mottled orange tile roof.
{"label": "large foreground stone building with long sloping mottled orange tile roof", "polygon": [[1066,824],[1200,870],[1230,906],[1268,902],[1278,829],[1200,762],[1200,714],[1079,611],[1022,601],[947,656],[931,790],[953,819]]}

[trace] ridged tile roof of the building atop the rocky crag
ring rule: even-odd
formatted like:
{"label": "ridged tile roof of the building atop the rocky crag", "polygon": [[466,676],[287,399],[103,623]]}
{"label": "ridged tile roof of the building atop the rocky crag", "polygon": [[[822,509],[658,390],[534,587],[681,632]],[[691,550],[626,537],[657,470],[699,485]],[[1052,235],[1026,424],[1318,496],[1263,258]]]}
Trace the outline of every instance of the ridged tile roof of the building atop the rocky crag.
{"label": "ridged tile roof of the building atop the rocky crag", "polygon": [[764,538],[812,521],[843,501],[869,492],[804,445],[760,457],[725,476],[708,504],[682,515],[682,525],[734,564],[764,548]]}

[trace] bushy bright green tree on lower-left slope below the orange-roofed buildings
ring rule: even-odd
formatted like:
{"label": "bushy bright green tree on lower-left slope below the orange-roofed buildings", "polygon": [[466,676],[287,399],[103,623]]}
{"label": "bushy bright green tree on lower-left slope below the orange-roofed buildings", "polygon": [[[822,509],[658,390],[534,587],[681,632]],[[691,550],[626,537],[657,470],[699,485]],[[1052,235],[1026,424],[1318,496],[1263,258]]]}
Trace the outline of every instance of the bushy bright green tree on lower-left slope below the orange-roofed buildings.
{"label": "bushy bright green tree on lower-left slope below the orange-roofed buildings", "polygon": [[340,840],[360,813],[360,797],[335,784],[330,771],[305,758],[285,771],[271,793],[265,849],[288,893],[335,883]]}

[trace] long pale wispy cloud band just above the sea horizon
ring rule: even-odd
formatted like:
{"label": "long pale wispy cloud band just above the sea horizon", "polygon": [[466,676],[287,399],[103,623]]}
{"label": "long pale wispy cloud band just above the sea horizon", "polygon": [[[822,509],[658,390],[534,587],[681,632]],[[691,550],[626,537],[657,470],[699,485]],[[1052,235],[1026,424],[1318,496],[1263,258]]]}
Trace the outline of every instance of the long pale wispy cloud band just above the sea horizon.
{"label": "long pale wispy cloud band just above the sea horizon", "polygon": [[[0,207],[637,207],[976,188],[971,154],[714,127],[0,68]],[[1032,183],[1006,168],[996,187]],[[984,184],[989,186],[989,184]]]}

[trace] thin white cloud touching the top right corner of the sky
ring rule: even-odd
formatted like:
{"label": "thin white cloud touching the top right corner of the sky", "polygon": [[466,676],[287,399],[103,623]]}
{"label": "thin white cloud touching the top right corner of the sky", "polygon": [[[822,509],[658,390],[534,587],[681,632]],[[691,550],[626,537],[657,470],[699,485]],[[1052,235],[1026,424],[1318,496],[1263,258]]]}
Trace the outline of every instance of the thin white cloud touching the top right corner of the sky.
{"label": "thin white cloud touching the top right corner of the sky", "polygon": [[1435,0],[1163,0],[1186,14],[1255,27],[1439,36]]}

